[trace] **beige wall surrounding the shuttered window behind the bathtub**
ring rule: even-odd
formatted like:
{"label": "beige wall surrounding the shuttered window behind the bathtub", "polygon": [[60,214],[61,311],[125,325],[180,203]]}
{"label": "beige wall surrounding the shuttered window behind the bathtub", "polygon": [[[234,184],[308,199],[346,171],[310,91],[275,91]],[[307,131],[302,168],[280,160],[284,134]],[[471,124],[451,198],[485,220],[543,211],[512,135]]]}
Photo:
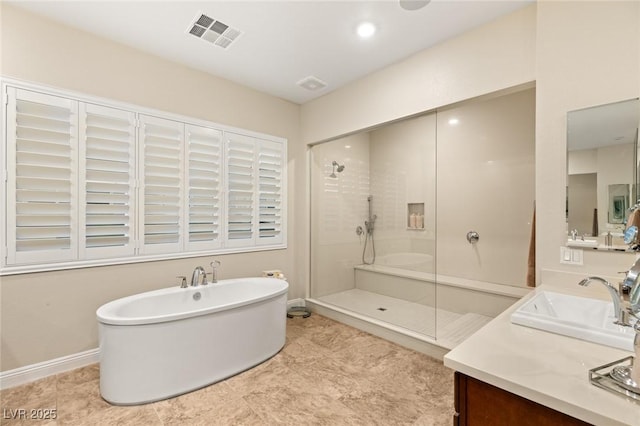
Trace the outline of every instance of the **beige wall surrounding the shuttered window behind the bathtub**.
{"label": "beige wall surrounding the shuttered window behind the bathtub", "polygon": [[[305,148],[299,106],[106,41],[0,3],[2,76],[285,137],[289,140],[286,250],[216,256],[221,278],[282,269],[289,298],[304,297]],[[300,194],[300,196],[296,196]],[[298,218],[300,218],[298,220]],[[294,231],[295,230],[295,231]],[[176,285],[210,257],[1,277],[1,365],[6,371],[98,347],[96,309]]]}

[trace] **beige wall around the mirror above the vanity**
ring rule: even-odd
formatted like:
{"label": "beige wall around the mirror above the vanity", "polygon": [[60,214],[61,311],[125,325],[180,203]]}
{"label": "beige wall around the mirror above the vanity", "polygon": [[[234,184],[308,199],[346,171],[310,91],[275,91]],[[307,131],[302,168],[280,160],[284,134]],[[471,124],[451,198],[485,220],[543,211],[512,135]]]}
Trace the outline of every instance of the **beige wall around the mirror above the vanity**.
{"label": "beige wall around the mirror above the vanity", "polygon": [[619,280],[618,271],[631,266],[634,254],[585,250],[583,266],[560,264],[566,238],[566,115],[640,95],[640,2],[542,1],[537,9],[538,267],[545,270],[543,280],[568,286],[586,274]]}

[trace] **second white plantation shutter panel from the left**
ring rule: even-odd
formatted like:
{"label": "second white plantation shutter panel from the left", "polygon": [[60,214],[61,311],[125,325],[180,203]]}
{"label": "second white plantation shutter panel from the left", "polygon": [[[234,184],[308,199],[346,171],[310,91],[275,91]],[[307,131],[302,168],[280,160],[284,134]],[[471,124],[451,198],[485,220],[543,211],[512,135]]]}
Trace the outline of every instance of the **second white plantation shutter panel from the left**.
{"label": "second white plantation shutter panel from the left", "polygon": [[135,114],[80,104],[80,139],[82,257],[133,255]]}

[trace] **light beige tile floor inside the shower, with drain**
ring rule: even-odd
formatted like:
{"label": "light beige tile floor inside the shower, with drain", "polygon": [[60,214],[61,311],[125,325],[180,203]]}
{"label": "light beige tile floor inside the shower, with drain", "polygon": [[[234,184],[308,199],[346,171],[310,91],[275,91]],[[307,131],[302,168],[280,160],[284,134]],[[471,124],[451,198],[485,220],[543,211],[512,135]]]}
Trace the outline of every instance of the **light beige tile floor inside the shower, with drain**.
{"label": "light beige tile floor inside the shower, with drain", "polygon": [[357,288],[322,296],[318,300],[435,338],[447,349],[453,349],[492,319],[480,314],[435,309]]}

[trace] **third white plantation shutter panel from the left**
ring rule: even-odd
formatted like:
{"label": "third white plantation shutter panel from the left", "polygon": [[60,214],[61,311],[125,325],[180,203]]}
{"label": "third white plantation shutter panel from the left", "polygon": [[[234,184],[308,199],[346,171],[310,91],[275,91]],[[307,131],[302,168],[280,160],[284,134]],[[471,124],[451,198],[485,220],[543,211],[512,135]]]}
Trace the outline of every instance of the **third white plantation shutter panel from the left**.
{"label": "third white plantation shutter panel from the left", "polygon": [[140,116],[141,252],[179,253],[183,223],[182,123]]}

